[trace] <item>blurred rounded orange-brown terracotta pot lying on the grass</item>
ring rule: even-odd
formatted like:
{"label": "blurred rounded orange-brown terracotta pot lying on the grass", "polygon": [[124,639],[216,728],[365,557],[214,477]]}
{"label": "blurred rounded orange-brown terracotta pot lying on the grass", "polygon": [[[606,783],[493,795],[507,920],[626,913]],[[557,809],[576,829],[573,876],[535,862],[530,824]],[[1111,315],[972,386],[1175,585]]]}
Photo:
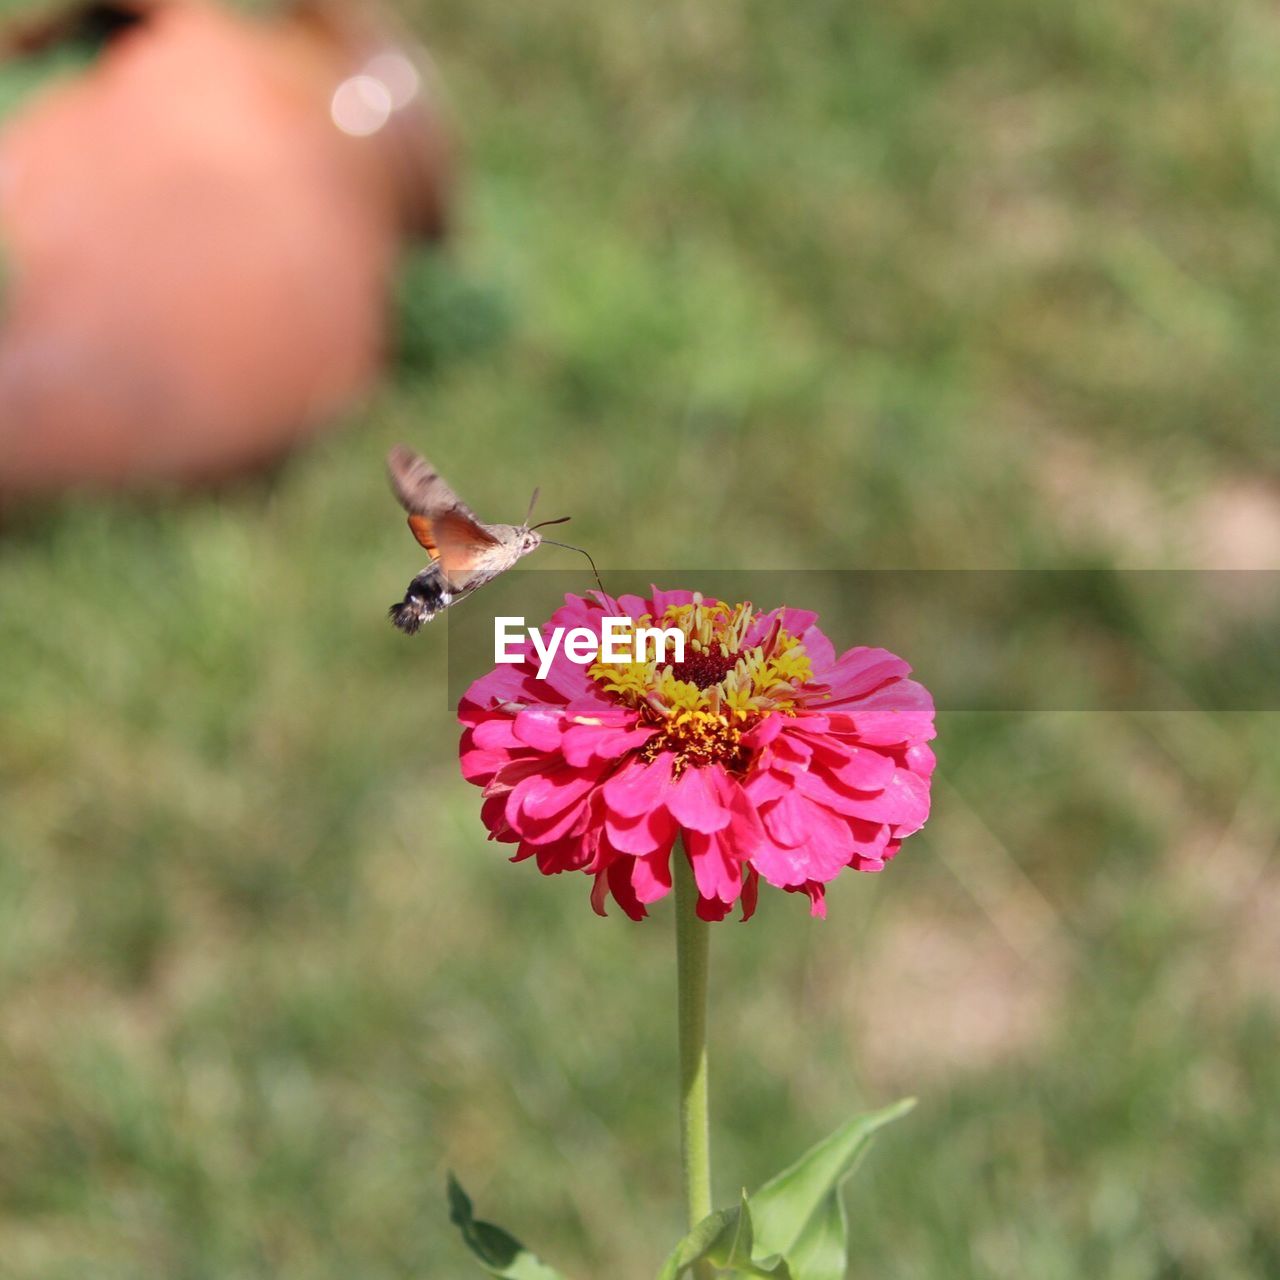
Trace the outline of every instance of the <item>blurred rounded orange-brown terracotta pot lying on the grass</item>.
{"label": "blurred rounded orange-brown terracotta pot lying on the grass", "polygon": [[282,456],[376,375],[397,248],[442,234],[452,180],[367,3],[76,20],[100,55],[0,125],[0,499]]}

